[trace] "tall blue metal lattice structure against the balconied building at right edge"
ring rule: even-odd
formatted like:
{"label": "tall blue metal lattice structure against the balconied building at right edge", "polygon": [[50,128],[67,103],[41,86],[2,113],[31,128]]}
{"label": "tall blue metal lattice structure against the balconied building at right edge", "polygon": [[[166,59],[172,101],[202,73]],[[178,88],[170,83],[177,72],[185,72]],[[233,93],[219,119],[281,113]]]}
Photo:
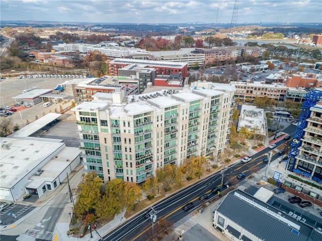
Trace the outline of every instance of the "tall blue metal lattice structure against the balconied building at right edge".
{"label": "tall blue metal lattice structure against the balconied building at right edge", "polygon": [[297,127],[294,133],[291,149],[288,154],[287,163],[285,169],[293,172],[295,165],[295,156],[298,154],[298,147],[301,146],[301,138],[304,134],[304,128],[307,126],[307,119],[310,117],[310,108],[316,105],[317,102],[322,100],[322,91],[313,90],[305,95],[305,99],[302,105],[300,116],[298,118]]}

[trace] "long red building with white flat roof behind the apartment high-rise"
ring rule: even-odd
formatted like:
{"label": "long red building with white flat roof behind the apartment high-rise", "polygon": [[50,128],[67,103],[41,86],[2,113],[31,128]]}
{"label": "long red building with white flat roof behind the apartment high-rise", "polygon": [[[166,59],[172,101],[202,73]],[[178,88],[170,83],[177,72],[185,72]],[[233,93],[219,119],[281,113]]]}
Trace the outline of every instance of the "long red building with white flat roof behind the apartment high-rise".
{"label": "long red building with white flat roof behind the apartment high-rise", "polygon": [[156,74],[170,75],[181,73],[183,77],[188,76],[188,63],[125,58],[116,58],[109,62],[110,75],[117,76],[118,69],[124,68],[127,65],[133,65],[136,68],[155,68]]}

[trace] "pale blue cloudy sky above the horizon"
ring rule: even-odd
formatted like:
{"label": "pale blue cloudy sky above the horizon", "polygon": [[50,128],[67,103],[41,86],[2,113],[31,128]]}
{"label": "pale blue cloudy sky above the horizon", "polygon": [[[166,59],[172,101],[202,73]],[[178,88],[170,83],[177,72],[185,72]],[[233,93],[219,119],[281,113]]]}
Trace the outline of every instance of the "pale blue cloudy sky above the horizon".
{"label": "pale blue cloudy sky above the horizon", "polygon": [[[234,0],[0,0],[0,20],[230,23],[234,3]],[[237,23],[320,23],[322,1],[239,0],[237,13]]]}

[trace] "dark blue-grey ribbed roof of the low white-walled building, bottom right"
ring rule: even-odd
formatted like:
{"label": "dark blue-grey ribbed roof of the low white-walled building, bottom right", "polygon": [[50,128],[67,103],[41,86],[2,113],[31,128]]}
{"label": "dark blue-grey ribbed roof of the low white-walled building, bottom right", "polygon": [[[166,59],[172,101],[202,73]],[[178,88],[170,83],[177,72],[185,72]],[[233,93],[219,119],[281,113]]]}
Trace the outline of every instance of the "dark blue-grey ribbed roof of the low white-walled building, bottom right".
{"label": "dark blue-grey ribbed roof of the low white-walled building, bottom right", "polygon": [[223,214],[233,222],[244,227],[250,233],[265,240],[265,241],[313,241],[322,240],[322,234],[314,230],[312,227],[304,224],[301,221],[290,217],[286,213],[282,213],[281,216],[300,226],[299,234],[292,233],[292,227],[287,225],[285,222],[277,219],[269,213],[257,208],[251,203],[240,199],[235,193],[244,196],[251,201],[269,209],[274,213],[279,213],[280,210],[272,207],[271,205],[264,203],[255,197],[235,190],[230,192],[220,206],[217,212]]}

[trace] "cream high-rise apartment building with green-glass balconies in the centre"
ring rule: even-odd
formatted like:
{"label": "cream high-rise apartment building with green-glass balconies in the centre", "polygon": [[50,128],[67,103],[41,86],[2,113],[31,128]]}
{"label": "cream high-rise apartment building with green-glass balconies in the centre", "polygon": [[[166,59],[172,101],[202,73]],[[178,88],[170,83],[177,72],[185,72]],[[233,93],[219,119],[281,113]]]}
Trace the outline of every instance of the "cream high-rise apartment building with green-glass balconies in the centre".
{"label": "cream high-rise apartment building with green-glass balconies in the centre", "polygon": [[75,111],[85,172],[142,183],[191,155],[216,155],[229,138],[234,87],[193,83],[124,99],[114,92]]}

